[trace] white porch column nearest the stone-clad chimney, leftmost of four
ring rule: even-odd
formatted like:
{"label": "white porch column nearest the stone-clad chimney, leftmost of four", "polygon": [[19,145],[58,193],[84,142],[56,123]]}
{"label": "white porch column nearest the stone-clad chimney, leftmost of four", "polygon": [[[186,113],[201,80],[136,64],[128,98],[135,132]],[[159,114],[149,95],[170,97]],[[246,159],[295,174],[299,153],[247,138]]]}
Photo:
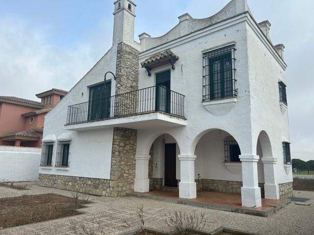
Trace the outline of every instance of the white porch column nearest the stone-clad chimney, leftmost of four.
{"label": "white porch column nearest the stone-clad chimney, leftmost of four", "polygon": [[151,158],[150,155],[136,155],[135,166],[135,192],[148,192],[149,191],[149,178],[148,178],[148,161]]}

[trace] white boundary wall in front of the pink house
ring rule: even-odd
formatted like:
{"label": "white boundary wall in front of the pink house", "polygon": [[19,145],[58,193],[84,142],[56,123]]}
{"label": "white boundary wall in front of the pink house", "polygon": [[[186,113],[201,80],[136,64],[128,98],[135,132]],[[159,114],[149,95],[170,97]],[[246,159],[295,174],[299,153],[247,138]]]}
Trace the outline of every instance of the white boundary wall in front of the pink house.
{"label": "white boundary wall in front of the pink house", "polygon": [[37,181],[41,148],[0,146],[0,182]]}

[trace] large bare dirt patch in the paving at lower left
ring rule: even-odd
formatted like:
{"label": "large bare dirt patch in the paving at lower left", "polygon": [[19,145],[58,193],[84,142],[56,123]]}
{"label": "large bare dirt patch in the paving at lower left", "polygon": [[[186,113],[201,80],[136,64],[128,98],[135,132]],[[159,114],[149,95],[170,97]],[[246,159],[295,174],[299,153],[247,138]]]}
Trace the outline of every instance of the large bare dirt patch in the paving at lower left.
{"label": "large bare dirt patch in the paving at lower left", "polygon": [[36,223],[81,214],[85,201],[56,194],[0,198],[0,227]]}

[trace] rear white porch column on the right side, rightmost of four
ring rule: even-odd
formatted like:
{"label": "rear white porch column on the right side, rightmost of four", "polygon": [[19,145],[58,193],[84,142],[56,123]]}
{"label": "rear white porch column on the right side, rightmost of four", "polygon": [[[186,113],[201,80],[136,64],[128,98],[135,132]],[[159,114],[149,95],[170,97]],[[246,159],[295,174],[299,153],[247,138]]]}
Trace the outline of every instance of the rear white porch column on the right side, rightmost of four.
{"label": "rear white porch column on the right side, rightmost of four", "polygon": [[264,164],[265,198],[279,199],[279,186],[275,181],[275,165],[277,158],[262,158]]}

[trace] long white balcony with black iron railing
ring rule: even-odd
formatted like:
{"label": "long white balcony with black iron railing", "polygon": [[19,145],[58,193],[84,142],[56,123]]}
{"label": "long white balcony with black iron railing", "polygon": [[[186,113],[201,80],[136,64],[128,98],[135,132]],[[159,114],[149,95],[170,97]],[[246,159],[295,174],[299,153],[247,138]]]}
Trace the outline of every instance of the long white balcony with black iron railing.
{"label": "long white balcony with black iron railing", "polygon": [[67,130],[185,126],[184,95],[162,86],[70,105]]}

